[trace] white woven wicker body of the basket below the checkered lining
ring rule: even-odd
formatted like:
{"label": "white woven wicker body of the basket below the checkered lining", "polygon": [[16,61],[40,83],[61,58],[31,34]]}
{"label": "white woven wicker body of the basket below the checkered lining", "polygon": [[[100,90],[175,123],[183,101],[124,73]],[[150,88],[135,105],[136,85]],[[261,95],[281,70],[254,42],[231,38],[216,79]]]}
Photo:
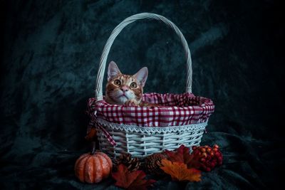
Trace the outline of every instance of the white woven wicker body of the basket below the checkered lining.
{"label": "white woven wicker body of the basket below the checkered lining", "polygon": [[111,146],[101,130],[98,130],[100,150],[114,158],[122,152],[128,152],[133,157],[144,158],[147,155],[162,152],[163,149],[176,149],[180,144],[187,147],[197,146],[201,142],[207,122],[173,126],[173,127],[137,127],[133,125],[118,125],[104,120],[98,120],[100,125],[113,136],[117,146]]}

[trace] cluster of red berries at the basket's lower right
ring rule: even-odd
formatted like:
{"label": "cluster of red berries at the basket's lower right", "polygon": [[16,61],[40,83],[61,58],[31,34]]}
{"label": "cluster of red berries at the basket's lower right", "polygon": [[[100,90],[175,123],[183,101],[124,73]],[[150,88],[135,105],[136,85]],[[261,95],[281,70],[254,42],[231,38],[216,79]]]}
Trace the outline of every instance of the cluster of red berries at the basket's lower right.
{"label": "cluster of red berries at the basket's lower right", "polygon": [[215,166],[222,165],[222,152],[219,146],[214,144],[211,148],[208,145],[201,147],[192,147],[192,154],[199,157],[199,169],[203,171],[211,171]]}

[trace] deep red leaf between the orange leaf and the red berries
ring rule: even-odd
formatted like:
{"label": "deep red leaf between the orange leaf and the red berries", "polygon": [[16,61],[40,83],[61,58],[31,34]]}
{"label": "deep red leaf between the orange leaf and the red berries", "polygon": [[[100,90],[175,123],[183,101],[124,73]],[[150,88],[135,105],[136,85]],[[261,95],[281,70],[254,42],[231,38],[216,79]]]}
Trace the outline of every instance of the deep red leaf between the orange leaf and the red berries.
{"label": "deep red leaf between the orange leaf and the red berries", "polygon": [[165,150],[165,153],[171,162],[181,162],[187,164],[187,167],[199,168],[199,157],[196,154],[190,154],[190,149],[184,144],[175,151]]}

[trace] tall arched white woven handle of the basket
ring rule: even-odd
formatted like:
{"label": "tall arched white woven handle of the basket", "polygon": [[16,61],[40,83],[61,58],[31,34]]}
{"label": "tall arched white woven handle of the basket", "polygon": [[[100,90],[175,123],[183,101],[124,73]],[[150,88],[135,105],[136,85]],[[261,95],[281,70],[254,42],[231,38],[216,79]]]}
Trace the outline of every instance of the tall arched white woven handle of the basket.
{"label": "tall arched white woven handle of the basket", "polygon": [[106,42],[102,56],[100,58],[100,64],[99,64],[99,70],[98,70],[98,75],[96,79],[96,86],[95,86],[95,98],[96,100],[103,100],[103,78],[104,78],[104,73],[105,73],[105,65],[107,62],[108,54],[110,52],[110,48],[115,40],[115,38],[118,36],[120,31],[125,28],[125,26],[128,26],[128,24],[133,23],[134,21],[138,21],[140,19],[154,19],[157,21],[162,21],[165,23],[167,26],[172,28],[175,33],[180,37],[180,40],[182,42],[182,46],[185,51],[185,55],[187,58],[187,81],[186,81],[186,93],[192,93],[192,60],[191,60],[191,54],[190,50],[188,47],[188,43],[185,40],[183,34],[175,26],[172,21],[166,19],[164,16],[160,16],[158,14],[150,14],[150,13],[142,13],[142,14],[135,14],[133,16],[128,17],[127,19],[123,20],[121,23],[118,24],[118,26],[115,27],[115,29],[112,31],[110,37],[108,38],[108,41]]}

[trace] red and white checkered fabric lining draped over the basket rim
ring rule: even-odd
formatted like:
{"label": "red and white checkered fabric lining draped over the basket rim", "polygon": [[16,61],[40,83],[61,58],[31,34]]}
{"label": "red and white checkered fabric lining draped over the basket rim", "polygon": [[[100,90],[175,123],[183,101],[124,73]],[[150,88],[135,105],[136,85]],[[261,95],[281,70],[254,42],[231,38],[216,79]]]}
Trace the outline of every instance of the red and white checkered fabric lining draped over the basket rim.
{"label": "red and white checkered fabric lining draped over the basket rim", "polygon": [[[157,107],[110,105],[105,100],[94,97],[88,101],[90,125],[96,118],[121,125],[140,127],[170,127],[206,122],[214,112],[212,100],[195,96],[192,93],[158,94],[146,93],[142,100],[155,103]],[[93,124],[92,124],[93,123]]]}

